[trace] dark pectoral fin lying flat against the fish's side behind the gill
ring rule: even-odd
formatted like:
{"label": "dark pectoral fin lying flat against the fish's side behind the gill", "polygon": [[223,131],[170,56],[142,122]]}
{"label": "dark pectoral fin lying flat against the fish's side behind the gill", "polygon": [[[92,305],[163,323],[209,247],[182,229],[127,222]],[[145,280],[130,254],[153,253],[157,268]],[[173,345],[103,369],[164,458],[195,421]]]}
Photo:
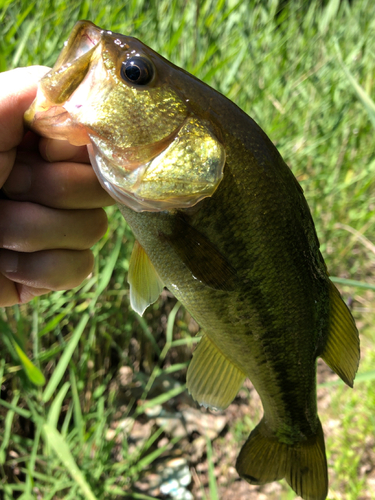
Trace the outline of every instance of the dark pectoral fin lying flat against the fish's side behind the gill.
{"label": "dark pectoral fin lying flat against the fish's side behind the gill", "polygon": [[173,233],[162,234],[193,276],[216,290],[233,290],[236,271],[209,239],[182,217],[176,218]]}

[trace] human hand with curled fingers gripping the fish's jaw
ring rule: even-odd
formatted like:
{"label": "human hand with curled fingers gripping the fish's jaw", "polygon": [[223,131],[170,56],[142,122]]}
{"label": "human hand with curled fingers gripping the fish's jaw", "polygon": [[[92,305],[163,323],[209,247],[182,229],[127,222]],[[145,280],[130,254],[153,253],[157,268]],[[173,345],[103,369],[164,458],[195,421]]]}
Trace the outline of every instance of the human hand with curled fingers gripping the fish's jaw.
{"label": "human hand with curled fingers gripping the fish's jaw", "polygon": [[91,272],[89,248],[113,204],[86,147],[25,134],[23,115],[48,68],[0,74],[0,307],[74,288]]}

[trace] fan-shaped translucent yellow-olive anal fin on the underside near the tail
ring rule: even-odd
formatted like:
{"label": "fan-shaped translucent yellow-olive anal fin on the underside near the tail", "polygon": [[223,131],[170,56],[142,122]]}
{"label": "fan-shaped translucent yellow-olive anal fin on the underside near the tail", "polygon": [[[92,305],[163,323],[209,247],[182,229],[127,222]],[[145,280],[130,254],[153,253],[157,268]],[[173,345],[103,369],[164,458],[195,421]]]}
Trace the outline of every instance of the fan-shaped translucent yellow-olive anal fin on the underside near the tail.
{"label": "fan-shaped translucent yellow-olive anal fin on the underside near the tail", "polygon": [[203,335],[193,353],[186,382],[193,398],[203,406],[226,408],[236,397],[246,375]]}

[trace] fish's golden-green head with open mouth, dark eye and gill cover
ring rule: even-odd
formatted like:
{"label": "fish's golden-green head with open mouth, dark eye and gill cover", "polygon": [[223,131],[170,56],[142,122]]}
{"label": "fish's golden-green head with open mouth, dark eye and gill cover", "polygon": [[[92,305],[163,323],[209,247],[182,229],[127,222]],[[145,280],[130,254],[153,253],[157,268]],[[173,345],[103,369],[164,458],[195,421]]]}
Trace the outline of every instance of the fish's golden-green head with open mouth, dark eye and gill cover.
{"label": "fish's golden-green head with open mouth, dark eye and gill cover", "polygon": [[25,122],[42,136],[87,144],[99,181],[120,204],[188,208],[215,192],[225,148],[192,107],[186,78],[136,38],[79,21]]}

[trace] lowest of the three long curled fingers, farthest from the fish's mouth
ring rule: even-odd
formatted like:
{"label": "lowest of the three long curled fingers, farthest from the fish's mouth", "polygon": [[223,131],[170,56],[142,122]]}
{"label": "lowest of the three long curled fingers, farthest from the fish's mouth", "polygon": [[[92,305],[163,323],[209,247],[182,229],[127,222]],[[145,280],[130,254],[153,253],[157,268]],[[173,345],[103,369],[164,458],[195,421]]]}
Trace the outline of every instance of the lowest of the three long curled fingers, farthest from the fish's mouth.
{"label": "lowest of the three long curled fingers, farthest from the fish's mouth", "polygon": [[[15,283],[44,290],[68,290],[92,271],[90,250],[44,250],[21,253],[0,250],[0,273]],[[18,297],[18,300],[23,300]]]}

